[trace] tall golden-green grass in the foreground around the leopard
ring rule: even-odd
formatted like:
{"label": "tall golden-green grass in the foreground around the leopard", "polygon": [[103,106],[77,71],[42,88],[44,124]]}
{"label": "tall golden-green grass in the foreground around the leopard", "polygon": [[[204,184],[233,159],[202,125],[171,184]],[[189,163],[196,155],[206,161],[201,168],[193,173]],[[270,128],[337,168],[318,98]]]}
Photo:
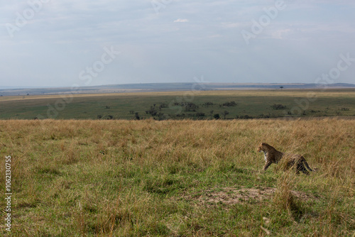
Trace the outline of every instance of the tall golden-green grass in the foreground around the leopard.
{"label": "tall golden-green grass in the foreground around the leopard", "polygon": [[[354,236],[354,134],[341,118],[0,121],[13,189],[0,233]],[[261,141],[317,172],[260,172]]]}

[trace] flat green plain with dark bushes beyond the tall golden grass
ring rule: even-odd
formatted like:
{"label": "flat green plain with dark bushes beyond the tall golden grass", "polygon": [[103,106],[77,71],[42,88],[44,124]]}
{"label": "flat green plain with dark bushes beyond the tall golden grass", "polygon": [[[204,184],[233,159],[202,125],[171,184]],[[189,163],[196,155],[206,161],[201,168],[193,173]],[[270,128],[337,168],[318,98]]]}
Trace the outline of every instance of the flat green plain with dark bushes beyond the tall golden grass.
{"label": "flat green plain with dark bushes beyond the tall golden grass", "polygon": [[[310,94],[314,97],[310,98]],[[221,106],[235,101],[236,106]],[[212,102],[211,106],[204,106]],[[193,103],[195,111],[187,111],[181,103]],[[161,104],[166,107],[159,108]],[[275,110],[274,104],[285,109]],[[154,106],[155,105],[155,106]],[[338,90],[259,90],[212,92],[156,92],[126,94],[80,94],[60,96],[0,97],[0,119],[212,119],[277,118],[284,116],[355,116],[354,89]],[[197,113],[204,116],[197,116]]]}

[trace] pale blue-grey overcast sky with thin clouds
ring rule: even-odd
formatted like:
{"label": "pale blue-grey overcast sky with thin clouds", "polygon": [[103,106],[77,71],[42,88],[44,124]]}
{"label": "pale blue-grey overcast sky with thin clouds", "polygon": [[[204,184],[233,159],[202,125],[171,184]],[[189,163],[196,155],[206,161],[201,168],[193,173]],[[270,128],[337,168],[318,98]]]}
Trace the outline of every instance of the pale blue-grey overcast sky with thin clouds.
{"label": "pale blue-grey overcast sky with thin clouds", "polygon": [[1,0],[0,87],[355,83],[354,13],[350,0]]}

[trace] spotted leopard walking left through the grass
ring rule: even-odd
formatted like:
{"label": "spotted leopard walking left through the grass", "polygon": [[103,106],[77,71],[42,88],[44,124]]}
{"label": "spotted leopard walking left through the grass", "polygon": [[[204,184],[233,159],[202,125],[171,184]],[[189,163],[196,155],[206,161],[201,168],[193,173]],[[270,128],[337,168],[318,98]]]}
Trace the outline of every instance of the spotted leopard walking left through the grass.
{"label": "spotted leopard walking left through the grass", "polygon": [[305,167],[307,167],[308,170],[313,171],[302,155],[282,153],[273,148],[273,146],[268,145],[268,143],[260,143],[258,146],[258,152],[264,153],[265,165],[263,167],[263,171],[266,171],[272,163],[278,164],[281,159],[286,159],[286,169],[289,169],[295,165],[297,175],[300,174],[300,171],[302,171],[305,175],[310,175],[310,172],[308,172]]}

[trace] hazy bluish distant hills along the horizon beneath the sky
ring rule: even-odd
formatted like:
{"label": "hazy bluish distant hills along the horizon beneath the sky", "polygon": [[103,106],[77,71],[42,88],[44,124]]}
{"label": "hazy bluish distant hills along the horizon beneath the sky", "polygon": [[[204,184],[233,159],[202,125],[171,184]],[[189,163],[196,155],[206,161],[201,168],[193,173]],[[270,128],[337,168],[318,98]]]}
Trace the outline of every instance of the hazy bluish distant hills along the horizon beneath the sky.
{"label": "hazy bluish distant hills along the horizon beneath the sky", "polygon": [[0,89],[0,96],[26,96],[40,94],[97,94],[124,92],[173,92],[193,90],[222,89],[338,89],[355,88],[355,84],[306,84],[306,83],[141,83],[141,84],[111,84],[95,87],[80,87],[72,91],[70,87],[62,88],[23,88]]}

